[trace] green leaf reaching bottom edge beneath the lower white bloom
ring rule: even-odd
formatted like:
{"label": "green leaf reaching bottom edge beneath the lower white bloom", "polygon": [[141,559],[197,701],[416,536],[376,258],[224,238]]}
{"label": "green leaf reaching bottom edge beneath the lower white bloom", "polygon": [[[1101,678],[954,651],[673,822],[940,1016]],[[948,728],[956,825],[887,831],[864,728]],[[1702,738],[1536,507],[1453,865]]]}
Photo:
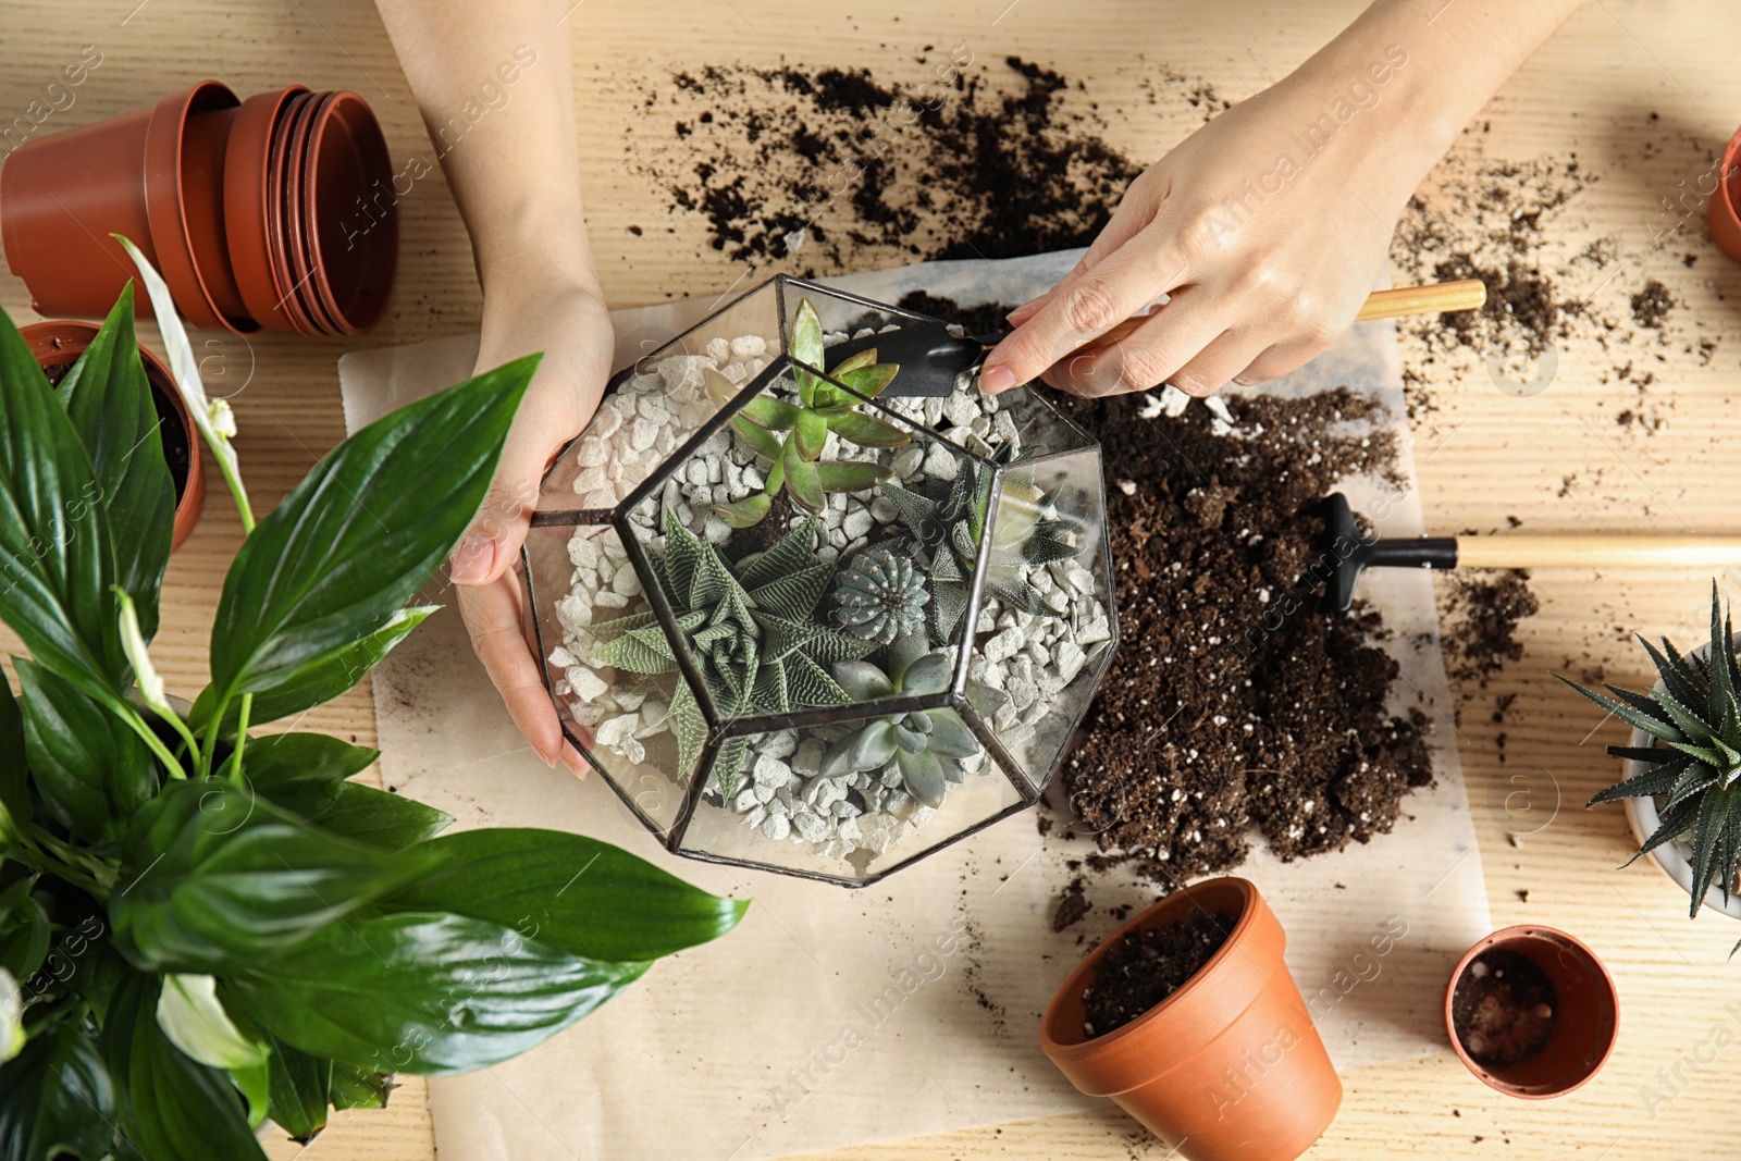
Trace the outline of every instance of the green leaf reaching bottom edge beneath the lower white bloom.
{"label": "green leaf reaching bottom edge beneath the lower white bloom", "polygon": [[150,1161],[263,1159],[230,1076],[176,1048],[157,1025],[158,978],[127,973],[103,1023],[120,1130]]}

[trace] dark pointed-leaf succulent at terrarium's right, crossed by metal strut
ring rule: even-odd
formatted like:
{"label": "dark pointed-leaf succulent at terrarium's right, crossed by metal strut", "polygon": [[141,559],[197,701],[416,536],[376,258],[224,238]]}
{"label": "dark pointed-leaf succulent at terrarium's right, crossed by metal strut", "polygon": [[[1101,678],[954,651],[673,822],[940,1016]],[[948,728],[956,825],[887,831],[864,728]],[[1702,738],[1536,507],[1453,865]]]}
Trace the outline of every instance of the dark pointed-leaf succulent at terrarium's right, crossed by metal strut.
{"label": "dark pointed-leaf succulent at terrarium's right, crossed by metal strut", "polygon": [[[1005,463],[1010,461],[1006,447],[999,449],[999,461]],[[991,508],[991,482],[992,472],[970,461],[940,496],[883,484],[883,494],[895,503],[897,519],[907,529],[914,557],[931,576],[937,594],[931,618],[938,641],[954,637],[968,607],[968,587]],[[1022,613],[1057,613],[1027,581],[1025,566],[1081,554],[1072,536],[1074,524],[1059,515],[1059,491],[1041,491],[1031,470],[1008,468],[1003,475],[985,590]]]}

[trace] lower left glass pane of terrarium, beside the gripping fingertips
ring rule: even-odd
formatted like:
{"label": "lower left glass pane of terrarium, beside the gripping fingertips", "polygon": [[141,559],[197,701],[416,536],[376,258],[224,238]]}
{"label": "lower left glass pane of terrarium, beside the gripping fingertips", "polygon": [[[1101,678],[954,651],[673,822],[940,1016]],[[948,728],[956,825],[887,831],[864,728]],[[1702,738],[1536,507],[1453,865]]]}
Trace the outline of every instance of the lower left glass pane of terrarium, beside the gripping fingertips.
{"label": "lower left glass pane of terrarium, beside the gripping fingertips", "polygon": [[627,548],[611,526],[534,527],[526,566],[545,689],[562,731],[641,822],[669,834],[698,757],[677,728],[693,695],[660,648]]}

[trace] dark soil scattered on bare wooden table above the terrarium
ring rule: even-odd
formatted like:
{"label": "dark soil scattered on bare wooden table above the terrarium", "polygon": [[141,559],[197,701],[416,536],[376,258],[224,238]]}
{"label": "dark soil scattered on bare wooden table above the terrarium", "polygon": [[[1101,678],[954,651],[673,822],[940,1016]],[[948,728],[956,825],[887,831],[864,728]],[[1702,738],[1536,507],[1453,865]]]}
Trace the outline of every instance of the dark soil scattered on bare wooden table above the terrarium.
{"label": "dark soil scattered on bare wooden table above the terrarium", "polygon": [[707,216],[714,249],[810,272],[912,258],[1010,258],[1086,245],[1142,172],[1106,143],[1079,84],[1024,61],[926,54],[902,85],[864,68],[709,66],[648,97],[681,148],[623,148]]}

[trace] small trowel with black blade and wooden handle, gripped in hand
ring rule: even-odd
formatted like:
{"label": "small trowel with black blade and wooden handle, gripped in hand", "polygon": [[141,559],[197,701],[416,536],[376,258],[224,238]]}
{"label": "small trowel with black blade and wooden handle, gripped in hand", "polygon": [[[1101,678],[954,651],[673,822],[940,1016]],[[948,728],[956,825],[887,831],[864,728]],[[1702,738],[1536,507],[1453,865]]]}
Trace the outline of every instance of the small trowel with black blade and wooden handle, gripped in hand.
{"label": "small trowel with black blade and wooden handle, gripped in hand", "polygon": [[[1400,285],[1388,291],[1374,291],[1354,317],[1356,322],[1368,319],[1400,319],[1403,315],[1431,315],[1452,310],[1478,310],[1487,301],[1487,285],[1476,279],[1464,282],[1429,282],[1426,285]],[[1106,346],[1126,338],[1147,320],[1137,315],[1118,324],[1090,346]],[[958,334],[961,327],[928,319],[909,319],[898,331],[867,334],[862,339],[848,339],[830,348],[836,357],[855,355],[860,350],[876,348],[877,362],[900,364],[900,374],[888,388],[888,395],[905,395],[918,399],[945,399],[966,388],[978,374],[985,353],[998,343],[1010,338],[1010,331],[996,334]]]}

